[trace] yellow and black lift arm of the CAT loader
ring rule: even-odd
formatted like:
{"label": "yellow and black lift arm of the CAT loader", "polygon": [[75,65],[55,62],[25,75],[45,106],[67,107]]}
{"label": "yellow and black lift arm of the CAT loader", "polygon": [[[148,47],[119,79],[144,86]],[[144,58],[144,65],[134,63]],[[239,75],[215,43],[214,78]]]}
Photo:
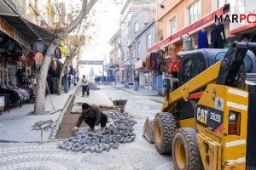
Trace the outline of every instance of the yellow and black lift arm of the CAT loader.
{"label": "yellow and black lift arm of the CAT loader", "polygon": [[230,87],[243,88],[246,72],[243,60],[248,48],[256,47],[252,42],[233,42],[232,47],[224,55],[224,59],[218,61],[207,70],[184,83],[181,87],[167,94],[162,105],[162,112],[172,112],[178,100],[189,100],[189,94],[204,90],[208,84],[217,83]]}

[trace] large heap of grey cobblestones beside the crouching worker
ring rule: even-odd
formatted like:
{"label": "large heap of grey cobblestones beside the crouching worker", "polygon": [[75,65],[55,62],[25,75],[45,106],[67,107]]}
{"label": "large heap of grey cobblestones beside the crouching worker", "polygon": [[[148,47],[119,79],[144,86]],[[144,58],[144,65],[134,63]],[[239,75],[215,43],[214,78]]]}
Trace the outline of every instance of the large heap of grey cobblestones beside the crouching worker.
{"label": "large heap of grey cobblestones beside the crouching worker", "polygon": [[127,112],[110,112],[109,117],[113,119],[113,123],[103,128],[100,133],[92,133],[88,130],[76,132],[76,137],[61,142],[58,148],[83,153],[87,151],[102,153],[102,151],[118,149],[119,144],[131,143],[135,140],[133,126],[137,122],[128,117]]}

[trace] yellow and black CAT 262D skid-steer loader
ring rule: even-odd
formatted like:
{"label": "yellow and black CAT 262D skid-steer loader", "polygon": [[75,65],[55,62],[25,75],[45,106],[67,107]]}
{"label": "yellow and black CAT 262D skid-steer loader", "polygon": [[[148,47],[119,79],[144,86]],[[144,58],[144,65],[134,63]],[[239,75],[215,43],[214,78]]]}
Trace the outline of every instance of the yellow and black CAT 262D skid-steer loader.
{"label": "yellow and black CAT 262D skid-steer loader", "polygon": [[[175,169],[256,169],[254,42],[201,49],[180,56],[177,88],[165,80],[166,97],[153,128],[160,154]],[[253,73],[254,72],[254,73]],[[249,81],[248,81],[249,80]]]}

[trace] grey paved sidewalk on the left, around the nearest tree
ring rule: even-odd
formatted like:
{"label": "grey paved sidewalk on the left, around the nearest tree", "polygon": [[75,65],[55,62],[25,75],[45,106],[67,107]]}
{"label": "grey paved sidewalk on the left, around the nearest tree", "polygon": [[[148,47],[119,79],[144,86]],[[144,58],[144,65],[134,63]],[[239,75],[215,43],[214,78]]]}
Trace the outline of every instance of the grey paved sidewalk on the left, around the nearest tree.
{"label": "grey paved sidewalk on the left, around the nearest tree", "polygon": [[[51,94],[53,105],[58,111],[52,115],[27,115],[27,113],[34,110],[33,103],[23,104],[19,106],[3,111],[3,115],[0,116],[0,140],[8,141],[40,141],[41,130],[32,130],[32,125],[38,121],[53,120],[55,122],[61,115],[61,111],[67,103],[67,99],[73,94],[76,87],[71,88],[69,93],[62,92],[61,95]],[[45,101],[45,111],[52,111],[52,105],[50,103],[49,95]],[[43,140],[49,139],[51,128],[48,131],[44,131]]]}

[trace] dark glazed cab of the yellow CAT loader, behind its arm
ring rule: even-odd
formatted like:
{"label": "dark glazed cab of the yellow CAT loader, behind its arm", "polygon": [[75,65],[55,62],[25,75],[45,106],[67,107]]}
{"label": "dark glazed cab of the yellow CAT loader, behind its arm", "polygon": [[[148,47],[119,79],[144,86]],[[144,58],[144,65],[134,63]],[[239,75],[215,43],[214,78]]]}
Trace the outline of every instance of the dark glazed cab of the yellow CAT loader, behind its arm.
{"label": "dark glazed cab of the yellow CAT loader, behind its arm", "polygon": [[[228,49],[203,48],[178,54],[180,65],[177,88],[189,82],[202,71],[207,70],[208,67],[214,65],[220,59],[223,59],[227,51]],[[247,80],[256,83],[256,58],[250,50],[247,51],[245,64],[247,67]],[[196,103],[196,99],[189,99],[189,102],[183,99],[179,100],[177,102],[177,111],[179,112],[177,119],[183,120],[193,117]]]}

